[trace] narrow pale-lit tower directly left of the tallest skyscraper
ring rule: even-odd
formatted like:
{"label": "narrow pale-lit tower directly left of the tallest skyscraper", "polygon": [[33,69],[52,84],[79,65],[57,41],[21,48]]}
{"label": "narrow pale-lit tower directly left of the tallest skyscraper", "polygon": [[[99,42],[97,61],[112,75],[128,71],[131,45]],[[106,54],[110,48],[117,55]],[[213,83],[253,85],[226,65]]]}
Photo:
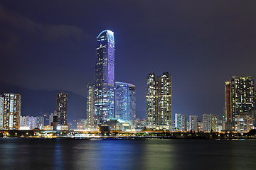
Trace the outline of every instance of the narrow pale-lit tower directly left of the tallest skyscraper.
{"label": "narrow pale-lit tower directly left of the tallest skyscraper", "polygon": [[87,94],[86,94],[86,124],[89,126],[95,125],[94,122],[94,85],[87,84]]}

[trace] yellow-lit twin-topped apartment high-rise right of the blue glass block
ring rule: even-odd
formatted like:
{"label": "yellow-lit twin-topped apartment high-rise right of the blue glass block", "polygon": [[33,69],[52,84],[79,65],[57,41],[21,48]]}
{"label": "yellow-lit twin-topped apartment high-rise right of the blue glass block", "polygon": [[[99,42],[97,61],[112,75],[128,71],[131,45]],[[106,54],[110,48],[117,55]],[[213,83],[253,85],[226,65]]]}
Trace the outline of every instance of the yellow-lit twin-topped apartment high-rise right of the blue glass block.
{"label": "yellow-lit twin-topped apartment high-rise right of the blue glass block", "polygon": [[171,125],[171,75],[146,77],[146,125]]}

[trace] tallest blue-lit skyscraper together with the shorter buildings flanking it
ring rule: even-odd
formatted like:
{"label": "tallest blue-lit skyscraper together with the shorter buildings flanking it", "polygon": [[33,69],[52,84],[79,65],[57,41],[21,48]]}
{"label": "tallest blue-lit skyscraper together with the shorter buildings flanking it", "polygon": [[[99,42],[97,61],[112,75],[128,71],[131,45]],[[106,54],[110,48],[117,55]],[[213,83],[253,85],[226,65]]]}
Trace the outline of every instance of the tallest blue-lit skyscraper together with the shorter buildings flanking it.
{"label": "tallest blue-lit skyscraper together with the shorter buildings flanking it", "polygon": [[87,128],[109,125],[115,130],[131,128],[136,120],[133,84],[114,81],[114,33],[97,36],[95,82],[87,85]]}

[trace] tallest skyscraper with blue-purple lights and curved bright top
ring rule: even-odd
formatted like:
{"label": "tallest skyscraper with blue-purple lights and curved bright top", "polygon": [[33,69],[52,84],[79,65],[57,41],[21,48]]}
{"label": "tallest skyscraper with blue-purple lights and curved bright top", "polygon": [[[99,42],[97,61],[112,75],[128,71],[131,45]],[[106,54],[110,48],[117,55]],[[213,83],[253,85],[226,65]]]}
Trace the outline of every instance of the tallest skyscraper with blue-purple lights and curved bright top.
{"label": "tallest skyscraper with blue-purple lights and curved bright top", "polygon": [[97,36],[95,66],[95,122],[114,118],[114,33],[103,30]]}

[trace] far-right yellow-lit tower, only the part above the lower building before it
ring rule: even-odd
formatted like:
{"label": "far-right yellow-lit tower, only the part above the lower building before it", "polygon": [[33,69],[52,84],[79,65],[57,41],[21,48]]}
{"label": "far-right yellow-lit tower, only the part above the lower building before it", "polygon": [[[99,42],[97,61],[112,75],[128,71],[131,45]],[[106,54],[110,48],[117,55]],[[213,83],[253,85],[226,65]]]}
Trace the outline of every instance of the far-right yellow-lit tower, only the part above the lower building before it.
{"label": "far-right yellow-lit tower, only the part above the lower building before it", "polygon": [[225,82],[225,119],[234,122],[235,115],[248,113],[255,107],[254,80],[237,77]]}

